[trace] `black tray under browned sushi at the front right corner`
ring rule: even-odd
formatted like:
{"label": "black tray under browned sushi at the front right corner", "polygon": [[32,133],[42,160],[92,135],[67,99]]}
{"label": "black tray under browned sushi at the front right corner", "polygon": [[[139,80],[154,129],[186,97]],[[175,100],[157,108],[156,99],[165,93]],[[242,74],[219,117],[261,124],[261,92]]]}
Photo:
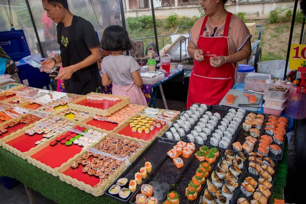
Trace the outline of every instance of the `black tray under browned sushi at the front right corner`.
{"label": "black tray under browned sushi at the front right corner", "polygon": [[[270,191],[271,191],[271,196],[268,198],[268,203],[272,203],[271,200],[272,200],[272,195],[273,195],[273,188],[274,188],[274,181],[275,181],[275,174],[276,174],[276,167],[277,167],[277,160],[274,160],[274,159],[272,159],[272,160],[273,160],[273,162],[275,163],[275,167],[274,167],[275,173],[274,173],[274,175],[272,176],[272,182],[271,182],[272,188],[270,189]],[[246,164],[247,167],[248,167],[248,164],[249,164],[249,162],[247,162],[247,164]],[[236,189],[236,191],[235,191],[235,193],[234,193],[233,199],[231,200],[233,203],[237,203],[237,200],[238,200],[239,198],[241,198],[241,197],[246,198],[246,199],[248,200],[248,202],[250,202],[251,199],[253,198],[253,195],[251,195],[251,196],[249,196],[249,197],[246,197],[246,195],[243,194],[243,193],[241,192],[241,189],[240,189],[240,186],[241,186],[242,182],[243,182],[244,179],[245,179],[246,177],[248,177],[248,176],[253,177],[256,181],[258,181],[258,179],[259,179],[259,175],[254,175],[254,174],[250,173],[250,172],[248,171],[248,169],[246,169],[246,170],[243,172],[243,175],[241,176],[241,180],[240,180],[240,182],[239,182],[239,186],[238,186],[238,188]],[[258,188],[258,186],[256,187],[256,189],[257,189],[257,188]]]}

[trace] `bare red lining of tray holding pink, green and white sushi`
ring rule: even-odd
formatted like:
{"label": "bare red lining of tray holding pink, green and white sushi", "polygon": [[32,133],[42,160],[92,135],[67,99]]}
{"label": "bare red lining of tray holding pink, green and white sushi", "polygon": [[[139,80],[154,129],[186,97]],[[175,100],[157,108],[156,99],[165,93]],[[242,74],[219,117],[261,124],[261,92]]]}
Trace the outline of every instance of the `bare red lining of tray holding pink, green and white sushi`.
{"label": "bare red lining of tray holding pink, green and white sushi", "polygon": [[83,146],[81,147],[75,144],[66,146],[65,144],[58,143],[55,146],[46,146],[31,157],[51,168],[58,168],[63,163],[79,154],[82,148]]}

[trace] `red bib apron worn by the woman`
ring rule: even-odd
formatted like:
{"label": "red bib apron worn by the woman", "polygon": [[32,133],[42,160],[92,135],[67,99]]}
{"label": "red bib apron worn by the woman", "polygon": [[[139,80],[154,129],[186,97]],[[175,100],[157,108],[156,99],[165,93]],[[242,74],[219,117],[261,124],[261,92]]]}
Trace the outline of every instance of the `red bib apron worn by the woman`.
{"label": "red bib apron worn by the woman", "polygon": [[210,58],[215,56],[228,56],[228,28],[230,27],[232,13],[228,12],[225,21],[223,36],[205,37],[203,31],[208,19],[205,17],[197,41],[198,49],[202,49],[204,60],[193,61],[194,65],[190,75],[187,108],[194,103],[206,105],[219,105],[222,98],[235,83],[235,66],[225,63],[220,67],[212,67]]}

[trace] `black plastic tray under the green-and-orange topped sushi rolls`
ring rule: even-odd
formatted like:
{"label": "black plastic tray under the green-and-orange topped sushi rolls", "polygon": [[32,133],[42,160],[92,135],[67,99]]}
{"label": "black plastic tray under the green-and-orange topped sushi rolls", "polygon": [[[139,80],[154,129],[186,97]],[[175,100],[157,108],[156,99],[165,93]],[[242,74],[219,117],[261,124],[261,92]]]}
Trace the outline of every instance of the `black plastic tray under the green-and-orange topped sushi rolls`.
{"label": "black plastic tray under the green-and-orange topped sushi rolls", "polygon": [[[210,146],[210,148],[213,148]],[[219,157],[217,158],[216,162],[211,164],[212,165],[212,170],[209,173],[209,176],[211,175],[213,169],[215,168],[215,165],[218,163],[220,156],[223,154],[223,150],[221,148],[217,148],[219,150]],[[205,162],[205,161],[203,161]],[[192,156],[188,166],[182,171],[181,175],[178,177],[178,179],[172,184],[172,187],[169,189],[169,191],[164,195],[163,200],[165,201],[167,199],[168,193],[171,191],[176,191],[180,195],[180,203],[196,203],[196,200],[189,201],[185,195],[185,189],[188,187],[188,184],[190,181],[192,181],[192,177],[195,175],[195,171],[197,168],[199,168],[200,162],[198,159],[195,158],[195,155]],[[200,191],[201,192],[201,191]],[[200,193],[199,192],[199,193]],[[199,194],[198,193],[198,194]]]}

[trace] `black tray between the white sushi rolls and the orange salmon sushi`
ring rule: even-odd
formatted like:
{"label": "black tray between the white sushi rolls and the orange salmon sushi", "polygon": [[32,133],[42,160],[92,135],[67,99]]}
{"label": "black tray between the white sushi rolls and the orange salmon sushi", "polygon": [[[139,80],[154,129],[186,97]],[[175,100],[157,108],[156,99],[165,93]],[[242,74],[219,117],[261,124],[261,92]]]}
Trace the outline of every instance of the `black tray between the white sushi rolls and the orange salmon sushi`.
{"label": "black tray between the white sushi rolls and the orange salmon sushi", "polygon": [[[264,135],[264,132],[265,132],[265,124],[266,124],[266,121],[267,121],[267,119],[268,119],[268,115],[267,114],[264,114],[264,113],[257,113],[257,112],[252,112],[252,111],[249,111],[248,113],[254,113],[254,114],[256,114],[256,115],[258,115],[258,114],[262,114],[263,116],[265,116],[265,118],[264,118],[264,123],[263,123],[263,126],[262,126],[262,129],[260,130],[260,135],[259,135],[259,137],[258,138],[255,138],[255,139],[257,139],[257,142],[256,142],[256,144],[255,144],[255,146],[254,146],[254,149],[253,149],[253,151],[256,151],[256,146],[258,145],[258,140],[260,140],[260,137],[262,136],[262,135]],[[244,120],[245,120],[245,117],[244,117]],[[242,123],[243,123],[244,121],[242,121]],[[243,127],[242,127],[242,125],[240,126],[240,130],[238,131],[238,133],[236,134],[236,136],[235,136],[235,138],[233,138],[233,140],[232,140],[232,143],[230,144],[230,146],[228,147],[228,149],[233,149],[233,143],[235,143],[235,142],[240,142],[240,144],[241,145],[243,145],[243,143],[246,141],[246,137],[247,136],[250,136],[250,132],[248,131],[248,132],[246,132],[245,130],[243,130]],[[243,149],[242,149],[242,151],[243,151]]]}

